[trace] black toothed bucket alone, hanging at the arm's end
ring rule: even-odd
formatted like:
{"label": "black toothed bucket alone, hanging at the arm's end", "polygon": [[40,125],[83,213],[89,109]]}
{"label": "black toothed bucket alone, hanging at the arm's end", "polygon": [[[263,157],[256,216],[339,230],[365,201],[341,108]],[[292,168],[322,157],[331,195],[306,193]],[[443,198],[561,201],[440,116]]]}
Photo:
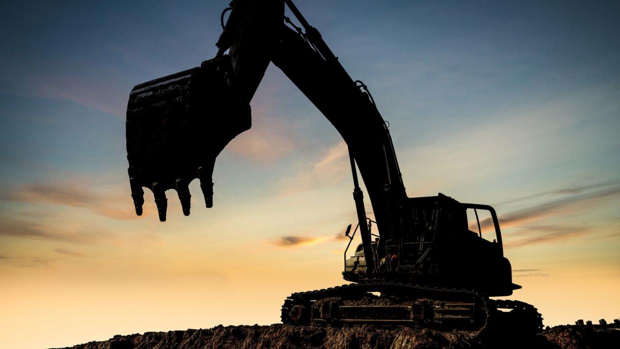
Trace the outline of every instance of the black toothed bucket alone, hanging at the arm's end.
{"label": "black toothed bucket alone, hanging at the arm's end", "polygon": [[226,81],[228,56],[139,84],[127,105],[126,139],[131,197],[142,214],[143,187],[166,220],[166,190],[190,213],[188,184],[200,179],[206,207],[213,206],[213,166],[226,144],[251,126],[250,105]]}

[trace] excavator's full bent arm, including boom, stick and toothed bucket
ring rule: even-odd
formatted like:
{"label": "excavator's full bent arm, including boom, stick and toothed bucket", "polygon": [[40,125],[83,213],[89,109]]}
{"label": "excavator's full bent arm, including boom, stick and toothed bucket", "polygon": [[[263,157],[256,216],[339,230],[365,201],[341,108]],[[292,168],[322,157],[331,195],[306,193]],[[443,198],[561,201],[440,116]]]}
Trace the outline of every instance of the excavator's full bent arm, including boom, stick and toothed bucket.
{"label": "excavator's full bent arm, including boom, stick and toothed bucket", "polygon": [[[303,29],[285,17],[285,3]],[[394,239],[394,227],[402,220],[397,207],[407,195],[389,130],[367,87],[353,81],[290,0],[235,0],[223,27],[213,60],[131,91],[126,136],[136,213],[141,214],[146,187],[153,191],[161,221],[166,219],[164,192],[169,189],[177,191],[188,215],[188,183],[195,178],[200,179],[206,206],[213,205],[216,156],[250,128],[249,102],[273,62],[347,143],[361,237],[373,265],[353,161],[368,190],[379,231],[387,234],[385,241]]]}

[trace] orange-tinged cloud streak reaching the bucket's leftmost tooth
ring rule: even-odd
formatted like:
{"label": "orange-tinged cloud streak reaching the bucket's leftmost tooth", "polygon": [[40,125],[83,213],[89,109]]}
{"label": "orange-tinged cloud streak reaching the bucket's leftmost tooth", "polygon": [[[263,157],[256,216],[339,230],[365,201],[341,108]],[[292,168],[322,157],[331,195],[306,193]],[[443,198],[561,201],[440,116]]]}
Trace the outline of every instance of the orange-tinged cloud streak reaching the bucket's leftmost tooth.
{"label": "orange-tinged cloud streak reaching the bucket's leftmost tooth", "polygon": [[[32,183],[4,195],[5,200],[84,208],[107,218],[136,219],[130,195],[97,193],[78,183]],[[151,205],[147,202],[145,205]],[[145,214],[152,210],[144,210]]]}

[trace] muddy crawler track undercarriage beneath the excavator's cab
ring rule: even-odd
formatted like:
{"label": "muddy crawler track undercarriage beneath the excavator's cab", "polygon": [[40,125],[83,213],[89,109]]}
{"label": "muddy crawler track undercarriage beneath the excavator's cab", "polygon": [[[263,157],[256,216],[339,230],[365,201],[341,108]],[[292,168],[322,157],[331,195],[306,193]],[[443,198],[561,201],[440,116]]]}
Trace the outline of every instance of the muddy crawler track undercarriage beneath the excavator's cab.
{"label": "muddy crawler track undercarriage beneath the excavator's cab", "polygon": [[[381,297],[370,293],[381,293]],[[498,311],[508,309],[508,312]],[[489,322],[540,332],[542,318],[520,301],[489,299],[464,289],[373,281],[293,293],[281,309],[284,324],[405,324],[483,330]]]}

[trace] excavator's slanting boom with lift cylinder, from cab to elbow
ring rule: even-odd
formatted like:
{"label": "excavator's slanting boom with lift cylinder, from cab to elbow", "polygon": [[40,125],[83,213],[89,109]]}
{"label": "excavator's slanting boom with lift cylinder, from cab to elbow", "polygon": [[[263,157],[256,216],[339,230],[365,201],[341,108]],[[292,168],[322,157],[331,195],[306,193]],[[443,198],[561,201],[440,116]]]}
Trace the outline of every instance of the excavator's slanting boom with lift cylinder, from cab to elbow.
{"label": "excavator's slanting boom with lift cylinder, from cab to elbow", "polygon": [[[339,131],[348,146],[353,172],[356,211],[366,263],[374,265],[371,236],[366,226],[363,195],[355,164],[360,169],[374,216],[384,242],[394,241],[395,227],[406,211],[398,207],[407,198],[389,130],[367,87],[353,81],[318,30],[311,27],[290,1],[287,5],[305,33],[283,27],[273,63],[303,92]],[[365,91],[361,91],[364,89]],[[384,249],[379,249],[383,251]]]}

